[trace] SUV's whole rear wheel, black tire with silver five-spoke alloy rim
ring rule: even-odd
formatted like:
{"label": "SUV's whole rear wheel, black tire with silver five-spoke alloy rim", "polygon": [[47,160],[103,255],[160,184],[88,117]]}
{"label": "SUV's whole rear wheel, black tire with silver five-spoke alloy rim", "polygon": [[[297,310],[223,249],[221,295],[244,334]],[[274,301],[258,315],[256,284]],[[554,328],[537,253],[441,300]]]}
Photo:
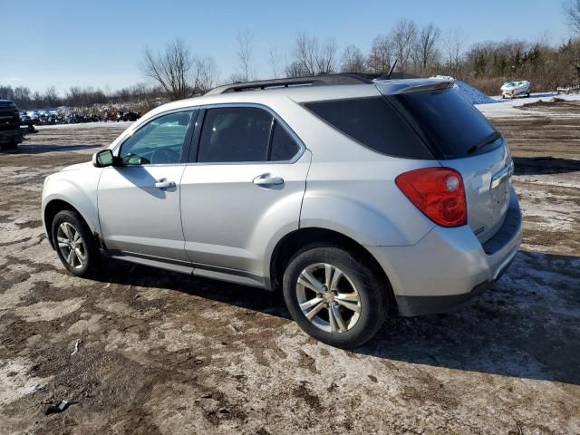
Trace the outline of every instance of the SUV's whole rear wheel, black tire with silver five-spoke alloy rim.
{"label": "SUV's whole rear wheel, black tire with silver five-spoke alloy rim", "polygon": [[387,288],[342,247],[306,247],[284,275],[288,311],[305,333],[340,348],[367,342],[387,314]]}

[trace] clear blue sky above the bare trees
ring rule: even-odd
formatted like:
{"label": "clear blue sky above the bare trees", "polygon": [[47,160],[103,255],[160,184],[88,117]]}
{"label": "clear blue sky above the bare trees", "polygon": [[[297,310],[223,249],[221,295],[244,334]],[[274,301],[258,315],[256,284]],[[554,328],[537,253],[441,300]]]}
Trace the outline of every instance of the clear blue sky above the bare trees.
{"label": "clear blue sky above the bare trees", "polygon": [[543,34],[558,43],[571,35],[558,0],[0,0],[0,83],[117,90],[144,81],[139,63],[146,45],[157,49],[175,37],[192,53],[212,55],[226,80],[236,70],[239,30],[254,34],[258,73],[267,77],[269,49],[291,57],[301,32],[332,36],[341,52],[350,43],[367,52],[372,38],[401,18],[443,31],[461,27],[466,47]]}

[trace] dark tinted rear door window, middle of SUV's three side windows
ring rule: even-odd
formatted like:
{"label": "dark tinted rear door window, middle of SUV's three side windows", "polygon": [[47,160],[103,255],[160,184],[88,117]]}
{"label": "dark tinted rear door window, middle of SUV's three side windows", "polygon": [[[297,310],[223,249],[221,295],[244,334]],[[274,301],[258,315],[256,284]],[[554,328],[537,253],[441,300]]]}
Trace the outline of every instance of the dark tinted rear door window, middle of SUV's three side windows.
{"label": "dark tinted rear door window, middle of SUV's three side windows", "polygon": [[291,160],[299,150],[299,145],[268,111],[225,107],[208,109],[199,140],[198,161]]}

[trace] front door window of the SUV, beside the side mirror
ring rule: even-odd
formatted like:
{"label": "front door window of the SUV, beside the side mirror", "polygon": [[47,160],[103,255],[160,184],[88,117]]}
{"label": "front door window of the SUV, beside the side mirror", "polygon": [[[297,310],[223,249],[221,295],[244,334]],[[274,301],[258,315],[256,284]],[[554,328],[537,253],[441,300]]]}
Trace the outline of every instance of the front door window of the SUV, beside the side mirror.
{"label": "front door window of the SUV, beside the side mirror", "polygon": [[141,127],[121,145],[123,165],[179,163],[193,113],[169,113]]}

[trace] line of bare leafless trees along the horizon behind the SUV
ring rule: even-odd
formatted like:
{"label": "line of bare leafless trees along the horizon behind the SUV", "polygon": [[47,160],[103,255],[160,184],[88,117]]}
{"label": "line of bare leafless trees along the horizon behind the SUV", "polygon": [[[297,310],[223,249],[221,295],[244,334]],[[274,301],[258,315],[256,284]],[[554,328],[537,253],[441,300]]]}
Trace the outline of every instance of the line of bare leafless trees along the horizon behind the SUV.
{"label": "line of bare leafless trees along the horizon behind the SUV", "polygon": [[[563,9],[568,24],[580,35],[580,0],[570,0]],[[374,37],[365,52],[353,44],[339,50],[334,38],[321,40],[302,33],[296,36],[290,53],[277,48],[268,51],[267,75],[282,78],[324,73],[387,73],[397,60],[395,71],[419,77],[450,75],[492,95],[498,94],[502,82],[510,80],[529,80],[537,92],[580,82],[580,37],[557,44],[540,37],[532,42],[490,41],[466,47],[466,36],[461,28],[442,31],[436,24],[420,26],[402,19],[389,32]],[[54,87],[45,92],[31,92],[24,86],[0,85],[0,97],[26,109],[198,96],[220,83],[259,78],[254,34],[238,32],[236,47],[237,68],[225,80],[220,79],[218,64],[211,56],[196,56],[187,43],[176,39],[159,51],[145,48],[140,70],[152,85],[138,83],[116,92],[90,86],[71,87],[63,96]]]}

